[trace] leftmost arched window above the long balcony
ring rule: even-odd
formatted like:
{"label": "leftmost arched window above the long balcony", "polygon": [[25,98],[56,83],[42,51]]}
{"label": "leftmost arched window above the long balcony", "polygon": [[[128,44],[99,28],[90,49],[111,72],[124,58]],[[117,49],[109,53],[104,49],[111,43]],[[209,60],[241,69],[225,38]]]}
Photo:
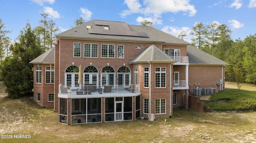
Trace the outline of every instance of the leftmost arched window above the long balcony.
{"label": "leftmost arched window above the long balcony", "polygon": [[69,66],[65,70],[65,85],[66,86],[79,86],[78,84],[79,67]]}

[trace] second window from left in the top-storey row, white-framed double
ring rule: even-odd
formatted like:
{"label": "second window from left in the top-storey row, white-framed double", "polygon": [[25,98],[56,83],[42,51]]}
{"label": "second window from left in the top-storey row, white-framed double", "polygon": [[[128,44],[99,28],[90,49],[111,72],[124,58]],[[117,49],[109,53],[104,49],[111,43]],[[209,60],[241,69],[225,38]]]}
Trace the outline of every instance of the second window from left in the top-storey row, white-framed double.
{"label": "second window from left in the top-storey row, white-framed double", "polygon": [[84,57],[98,57],[98,44],[84,43]]}

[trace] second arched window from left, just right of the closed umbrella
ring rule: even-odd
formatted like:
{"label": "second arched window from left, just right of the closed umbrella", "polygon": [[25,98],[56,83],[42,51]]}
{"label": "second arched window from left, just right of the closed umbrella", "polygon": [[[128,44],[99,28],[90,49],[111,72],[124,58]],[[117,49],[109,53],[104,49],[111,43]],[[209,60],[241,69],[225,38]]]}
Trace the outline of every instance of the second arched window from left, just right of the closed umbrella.
{"label": "second arched window from left, just right of the closed umbrella", "polygon": [[84,68],[84,84],[98,85],[98,69],[94,66]]}

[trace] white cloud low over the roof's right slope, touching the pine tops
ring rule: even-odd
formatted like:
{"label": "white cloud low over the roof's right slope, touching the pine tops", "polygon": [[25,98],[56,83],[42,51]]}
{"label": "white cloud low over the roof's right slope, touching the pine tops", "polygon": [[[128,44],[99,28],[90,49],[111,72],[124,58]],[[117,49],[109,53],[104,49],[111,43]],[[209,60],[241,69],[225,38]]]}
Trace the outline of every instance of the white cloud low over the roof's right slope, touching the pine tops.
{"label": "white cloud low over the roof's right slope, touching the pine tops", "polygon": [[164,26],[162,29],[162,31],[164,31],[165,33],[168,33],[170,35],[173,35],[175,37],[178,37],[179,34],[184,31],[185,34],[186,34],[186,37],[184,37],[184,40],[191,43],[191,36],[190,36],[190,32],[191,32],[191,29],[189,27],[176,27],[176,26]]}

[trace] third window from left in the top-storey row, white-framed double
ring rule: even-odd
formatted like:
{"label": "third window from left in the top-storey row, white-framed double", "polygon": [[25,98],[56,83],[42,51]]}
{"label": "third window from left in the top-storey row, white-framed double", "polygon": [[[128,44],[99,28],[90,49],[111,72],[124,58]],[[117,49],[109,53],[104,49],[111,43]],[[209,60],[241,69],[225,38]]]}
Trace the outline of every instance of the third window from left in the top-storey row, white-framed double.
{"label": "third window from left in the top-storey row, white-framed double", "polygon": [[102,58],[115,58],[115,45],[102,44],[101,45]]}

